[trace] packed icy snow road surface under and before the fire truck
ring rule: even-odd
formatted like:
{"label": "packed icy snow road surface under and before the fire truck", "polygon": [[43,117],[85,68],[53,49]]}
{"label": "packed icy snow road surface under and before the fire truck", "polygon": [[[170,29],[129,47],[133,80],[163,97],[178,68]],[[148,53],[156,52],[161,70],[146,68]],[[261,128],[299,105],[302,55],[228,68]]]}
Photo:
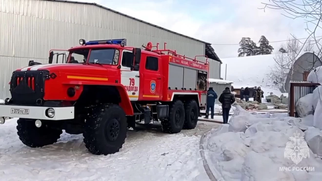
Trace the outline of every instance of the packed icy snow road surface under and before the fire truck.
{"label": "packed icy snow road surface under and before the fire truck", "polygon": [[128,131],[120,152],[90,154],[81,135],[63,133],[43,148],[22,144],[17,121],[0,125],[1,181],[209,181],[199,152],[200,135],[219,124],[164,134],[160,126]]}

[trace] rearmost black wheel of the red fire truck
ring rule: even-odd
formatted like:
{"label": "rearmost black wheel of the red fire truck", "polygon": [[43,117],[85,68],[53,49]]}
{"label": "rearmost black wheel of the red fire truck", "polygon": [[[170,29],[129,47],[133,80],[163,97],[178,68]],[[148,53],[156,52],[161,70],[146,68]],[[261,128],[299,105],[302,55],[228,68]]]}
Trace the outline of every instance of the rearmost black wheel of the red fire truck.
{"label": "rearmost black wheel of the red fire truck", "polygon": [[198,117],[199,117],[199,108],[195,100],[187,101],[184,106],[185,109],[185,120],[184,120],[184,129],[195,129]]}

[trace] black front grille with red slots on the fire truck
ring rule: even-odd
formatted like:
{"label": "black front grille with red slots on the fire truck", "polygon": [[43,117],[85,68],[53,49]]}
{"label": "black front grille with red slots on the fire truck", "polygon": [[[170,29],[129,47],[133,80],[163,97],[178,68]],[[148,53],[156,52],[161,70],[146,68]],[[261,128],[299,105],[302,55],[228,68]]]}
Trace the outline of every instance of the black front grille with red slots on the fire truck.
{"label": "black front grille with red slots on the fire truck", "polygon": [[11,102],[14,104],[35,105],[43,100],[45,80],[49,71],[15,71],[11,77]]}

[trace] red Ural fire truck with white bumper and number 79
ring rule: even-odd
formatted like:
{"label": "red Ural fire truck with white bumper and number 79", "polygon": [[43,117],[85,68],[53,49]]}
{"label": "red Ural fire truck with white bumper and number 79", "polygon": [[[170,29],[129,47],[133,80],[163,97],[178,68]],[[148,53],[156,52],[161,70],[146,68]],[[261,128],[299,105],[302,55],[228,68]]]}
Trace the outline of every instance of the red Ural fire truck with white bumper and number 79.
{"label": "red Ural fire truck with white bumper and number 79", "polygon": [[27,146],[52,144],[65,130],[83,134],[97,155],[118,152],[136,123],[160,121],[167,133],[194,129],[208,86],[207,59],[181,56],[166,43],[164,49],[142,46],[80,40],[68,54],[51,50],[48,64],[30,60],[13,72],[0,117],[19,118],[18,135]]}

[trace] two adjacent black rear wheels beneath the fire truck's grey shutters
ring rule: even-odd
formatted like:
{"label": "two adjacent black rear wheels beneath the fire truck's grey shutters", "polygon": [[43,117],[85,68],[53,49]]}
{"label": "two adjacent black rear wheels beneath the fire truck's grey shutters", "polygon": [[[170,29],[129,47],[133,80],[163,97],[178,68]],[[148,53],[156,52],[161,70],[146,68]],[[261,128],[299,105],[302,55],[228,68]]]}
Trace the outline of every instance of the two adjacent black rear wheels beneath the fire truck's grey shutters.
{"label": "two adjacent black rear wheels beneath the fire truck's grey shutters", "polygon": [[162,130],[166,133],[179,133],[182,129],[194,129],[199,117],[199,108],[195,100],[185,104],[176,100],[170,106],[167,120],[161,121]]}

